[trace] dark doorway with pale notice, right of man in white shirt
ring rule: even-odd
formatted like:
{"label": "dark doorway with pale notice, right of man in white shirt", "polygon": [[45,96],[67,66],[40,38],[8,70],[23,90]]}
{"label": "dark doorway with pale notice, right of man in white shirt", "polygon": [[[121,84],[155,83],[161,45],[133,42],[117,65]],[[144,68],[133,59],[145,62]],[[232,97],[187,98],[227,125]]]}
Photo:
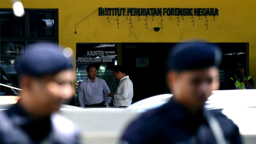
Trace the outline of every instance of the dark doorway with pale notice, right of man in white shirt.
{"label": "dark doorway with pale notice, right of man in white shirt", "polygon": [[133,82],[133,103],[166,94],[167,43],[122,43],[122,66]]}

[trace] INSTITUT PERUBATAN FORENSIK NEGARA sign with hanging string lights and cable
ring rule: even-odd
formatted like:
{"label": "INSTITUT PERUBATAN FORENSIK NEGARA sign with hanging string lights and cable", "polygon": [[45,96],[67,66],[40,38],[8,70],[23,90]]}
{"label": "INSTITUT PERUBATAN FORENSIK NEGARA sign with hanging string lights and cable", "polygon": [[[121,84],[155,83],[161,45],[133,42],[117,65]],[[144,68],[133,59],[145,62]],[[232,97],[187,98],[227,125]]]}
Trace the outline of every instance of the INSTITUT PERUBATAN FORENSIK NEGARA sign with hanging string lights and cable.
{"label": "INSTITUT PERUBATAN FORENSIK NEGARA sign with hanging string lights and cable", "polygon": [[[177,11],[176,11],[177,9]],[[152,16],[152,21],[154,21],[155,16],[161,17],[161,29],[163,28],[163,16],[177,16],[177,25],[179,26],[180,16],[182,17],[182,21],[184,21],[185,16],[192,16],[191,19],[193,22],[193,26],[195,26],[194,16],[198,16],[199,20],[203,20],[203,16],[206,18],[206,24],[208,29],[208,18],[207,16],[213,16],[213,20],[215,20],[215,16],[219,15],[219,10],[217,8],[131,8],[131,7],[118,7],[118,8],[103,8],[98,7],[94,12],[92,12],[89,16],[94,14],[96,11],[99,11],[98,16],[107,16],[108,23],[110,23],[110,16],[117,16],[117,27],[119,28],[119,16],[126,16],[126,20],[128,20],[128,16],[130,16],[129,24],[131,24],[131,28],[133,28],[132,16],[138,16],[138,20],[140,21],[140,16],[145,16],[145,25],[148,29],[148,16]],[[184,11],[185,10],[185,11]],[[76,34],[76,26],[82,21],[86,20],[89,16],[85,17],[83,20],[75,24],[75,34]]]}

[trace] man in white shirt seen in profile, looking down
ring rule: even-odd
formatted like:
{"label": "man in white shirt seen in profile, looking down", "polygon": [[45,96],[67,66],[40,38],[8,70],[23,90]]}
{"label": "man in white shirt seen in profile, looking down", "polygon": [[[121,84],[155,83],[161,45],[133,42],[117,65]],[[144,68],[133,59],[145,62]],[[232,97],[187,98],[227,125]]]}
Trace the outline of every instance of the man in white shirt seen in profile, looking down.
{"label": "man in white shirt seen in profile, looking down", "polygon": [[116,79],[120,80],[116,93],[111,92],[108,96],[114,98],[114,107],[127,107],[132,104],[133,98],[133,83],[129,76],[125,74],[121,65],[116,65],[113,68],[113,74]]}

